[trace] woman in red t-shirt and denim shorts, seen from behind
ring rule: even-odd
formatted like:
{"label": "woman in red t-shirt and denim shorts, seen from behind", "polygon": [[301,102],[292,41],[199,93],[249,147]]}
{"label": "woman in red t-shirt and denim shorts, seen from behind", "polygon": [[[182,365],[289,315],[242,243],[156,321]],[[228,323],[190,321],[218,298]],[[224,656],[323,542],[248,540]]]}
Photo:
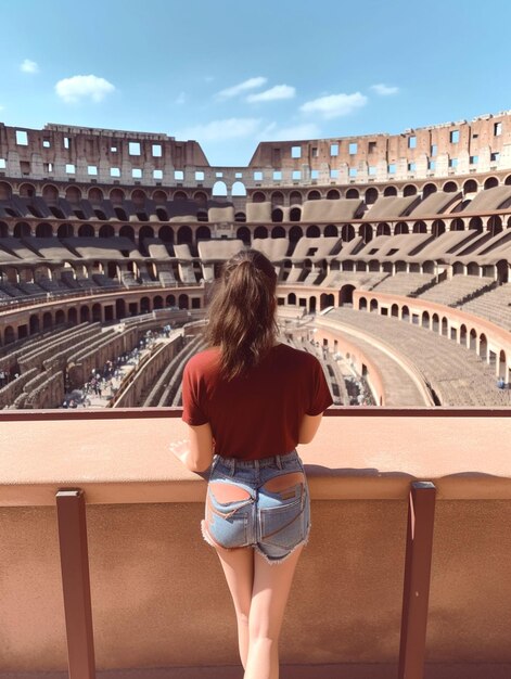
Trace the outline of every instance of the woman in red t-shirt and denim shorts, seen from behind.
{"label": "woman in red t-shirt and denim shorts, seen from behind", "polygon": [[319,361],[277,341],[276,286],[256,251],[225,265],[209,307],[210,348],[184,369],[189,441],[174,446],[192,471],[213,459],[202,529],[234,603],[244,679],[279,676],[284,607],[309,529],[295,447],[314,438],[332,403]]}

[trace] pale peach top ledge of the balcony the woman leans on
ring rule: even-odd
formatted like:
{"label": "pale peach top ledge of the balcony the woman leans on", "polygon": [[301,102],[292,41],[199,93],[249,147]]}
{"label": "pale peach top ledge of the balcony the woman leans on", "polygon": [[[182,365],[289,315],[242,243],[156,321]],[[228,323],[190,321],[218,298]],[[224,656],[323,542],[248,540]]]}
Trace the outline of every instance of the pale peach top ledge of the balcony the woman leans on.
{"label": "pale peach top ledge of the balcony the woman leans on", "polygon": [[[168,451],[180,410],[157,410],[1,413],[0,505],[53,505],[74,487],[90,504],[202,502],[206,475]],[[438,500],[511,499],[509,409],[332,409],[299,453],[317,500],[401,500],[416,479]]]}

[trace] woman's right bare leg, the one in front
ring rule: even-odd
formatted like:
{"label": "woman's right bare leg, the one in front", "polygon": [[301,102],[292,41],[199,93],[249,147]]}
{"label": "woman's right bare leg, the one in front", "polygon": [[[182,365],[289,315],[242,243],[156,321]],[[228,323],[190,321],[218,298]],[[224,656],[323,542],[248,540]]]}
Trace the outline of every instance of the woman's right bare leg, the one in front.
{"label": "woman's right bare leg, the one in front", "polygon": [[244,679],[279,678],[280,630],[301,553],[298,547],[281,564],[270,564],[254,552],[250,648]]}

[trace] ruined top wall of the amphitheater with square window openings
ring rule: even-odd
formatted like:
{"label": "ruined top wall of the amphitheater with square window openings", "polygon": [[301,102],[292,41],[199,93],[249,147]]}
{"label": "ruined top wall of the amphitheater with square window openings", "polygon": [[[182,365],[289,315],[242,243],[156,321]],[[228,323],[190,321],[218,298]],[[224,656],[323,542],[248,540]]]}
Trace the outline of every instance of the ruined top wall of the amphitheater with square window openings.
{"label": "ruined top wall of the amphitheater with square window openings", "polygon": [[[215,189],[349,185],[511,169],[511,112],[401,134],[261,142],[246,167],[212,167],[196,141],[167,134],[0,123],[0,176],[65,183]],[[241,185],[242,184],[242,185]],[[217,193],[217,195],[222,195]]]}

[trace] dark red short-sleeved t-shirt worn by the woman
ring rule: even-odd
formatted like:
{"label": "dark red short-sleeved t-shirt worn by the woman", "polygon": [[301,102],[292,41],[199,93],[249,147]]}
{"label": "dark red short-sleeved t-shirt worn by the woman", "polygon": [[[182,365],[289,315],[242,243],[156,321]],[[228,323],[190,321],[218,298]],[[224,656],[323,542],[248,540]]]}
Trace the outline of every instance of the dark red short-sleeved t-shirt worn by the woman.
{"label": "dark red short-sleeved t-shirt worn by the woman", "polygon": [[220,375],[219,349],[193,356],[182,379],[182,419],[208,422],[215,452],[225,458],[260,460],[294,450],[304,414],[332,405],[320,362],[306,351],[278,344],[243,376]]}

